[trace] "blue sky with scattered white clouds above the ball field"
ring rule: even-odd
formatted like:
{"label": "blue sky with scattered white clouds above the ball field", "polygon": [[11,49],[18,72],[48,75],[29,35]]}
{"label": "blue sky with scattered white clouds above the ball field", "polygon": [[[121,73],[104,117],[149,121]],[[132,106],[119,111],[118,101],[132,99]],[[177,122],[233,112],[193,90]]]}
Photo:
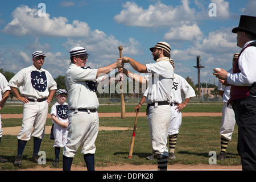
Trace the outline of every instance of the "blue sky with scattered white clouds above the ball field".
{"label": "blue sky with scattered white clouds above the ball field", "polygon": [[[46,16],[38,12],[46,5]],[[216,16],[209,16],[210,3]],[[253,0],[40,0],[2,1],[0,6],[0,64],[17,73],[32,64],[32,52],[46,52],[43,65],[53,77],[65,75],[69,51],[85,47],[88,65],[100,68],[119,57],[154,63],[150,47],[164,41],[171,46],[175,72],[197,84],[196,56],[201,56],[201,82],[214,81],[213,68],[230,69],[240,52],[236,34],[240,15],[256,16]],[[211,11],[212,12],[212,11]],[[129,64],[125,68],[135,72]]]}

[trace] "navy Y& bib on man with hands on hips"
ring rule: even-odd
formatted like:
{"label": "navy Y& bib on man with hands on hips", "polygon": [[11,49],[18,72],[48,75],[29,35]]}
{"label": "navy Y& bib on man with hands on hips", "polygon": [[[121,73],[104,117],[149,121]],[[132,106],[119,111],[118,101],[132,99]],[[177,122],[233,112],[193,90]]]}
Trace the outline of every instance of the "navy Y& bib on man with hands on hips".
{"label": "navy Y& bib on man with hands on hips", "polygon": [[38,90],[39,92],[46,91],[47,88],[47,78],[46,72],[38,72],[38,71],[31,71],[31,84],[34,89]]}

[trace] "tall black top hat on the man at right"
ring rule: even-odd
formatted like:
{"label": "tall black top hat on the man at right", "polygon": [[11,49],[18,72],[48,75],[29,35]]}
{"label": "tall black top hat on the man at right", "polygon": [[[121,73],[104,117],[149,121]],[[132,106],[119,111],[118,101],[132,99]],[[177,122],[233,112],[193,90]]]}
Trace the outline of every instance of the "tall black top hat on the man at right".
{"label": "tall black top hat on the man at right", "polygon": [[233,33],[236,33],[237,31],[247,31],[256,34],[256,17],[241,15],[239,26],[232,30]]}

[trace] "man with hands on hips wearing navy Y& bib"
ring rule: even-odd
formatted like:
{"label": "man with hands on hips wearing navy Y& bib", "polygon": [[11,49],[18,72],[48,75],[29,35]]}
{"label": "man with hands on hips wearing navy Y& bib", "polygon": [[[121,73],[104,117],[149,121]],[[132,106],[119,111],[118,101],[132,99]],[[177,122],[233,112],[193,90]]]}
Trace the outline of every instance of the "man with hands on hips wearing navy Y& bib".
{"label": "man with hands on hips wearing navy Y& bib", "polygon": [[[14,96],[24,103],[22,128],[18,134],[18,153],[14,166],[22,165],[22,154],[31,130],[34,137],[32,160],[38,162],[38,152],[44,137],[44,127],[48,114],[48,104],[57,90],[57,84],[51,74],[42,68],[44,64],[43,51],[32,54],[33,65],[20,70],[11,80],[9,86]],[[19,89],[19,92],[18,92]]]}

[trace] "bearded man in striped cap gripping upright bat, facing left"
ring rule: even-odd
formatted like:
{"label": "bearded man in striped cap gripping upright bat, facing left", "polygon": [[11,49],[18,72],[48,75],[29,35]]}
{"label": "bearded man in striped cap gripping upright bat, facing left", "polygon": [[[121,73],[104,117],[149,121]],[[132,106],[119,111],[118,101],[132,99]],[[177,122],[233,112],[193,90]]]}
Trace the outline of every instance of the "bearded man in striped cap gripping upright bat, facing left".
{"label": "bearded man in striped cap gripping upright bat, facing left", "polygon": [[148,87],[141,102],[135,106],[136,113],[141,110],[144,102],[147,106],[147,120],[150,127],[152,155],[158,159],[158,170],[167,170],[168,148],[167,135],[170,125],[171,91],[174,81],[174,68],[169,62],[171,47],[166,42],[159,42],[151,47],[153,59],[156,63],[143,65],[130,57],[122,57],[123,63],[130,65],[139,73],[148,73]]}

